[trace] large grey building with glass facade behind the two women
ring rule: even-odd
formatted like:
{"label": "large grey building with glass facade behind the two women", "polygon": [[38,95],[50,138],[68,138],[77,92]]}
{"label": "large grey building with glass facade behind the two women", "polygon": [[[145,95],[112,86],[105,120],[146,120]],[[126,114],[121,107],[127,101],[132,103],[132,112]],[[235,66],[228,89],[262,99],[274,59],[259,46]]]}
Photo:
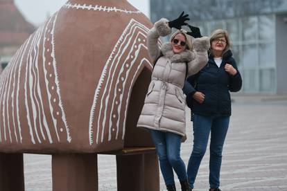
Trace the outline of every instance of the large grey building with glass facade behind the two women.
{"label": "large grey building with glass facade behind the two women", "polygon": [[287,93],[287,0],[150,0],[150,18],[189,14],[202,35],[229,31],[242,93]]}

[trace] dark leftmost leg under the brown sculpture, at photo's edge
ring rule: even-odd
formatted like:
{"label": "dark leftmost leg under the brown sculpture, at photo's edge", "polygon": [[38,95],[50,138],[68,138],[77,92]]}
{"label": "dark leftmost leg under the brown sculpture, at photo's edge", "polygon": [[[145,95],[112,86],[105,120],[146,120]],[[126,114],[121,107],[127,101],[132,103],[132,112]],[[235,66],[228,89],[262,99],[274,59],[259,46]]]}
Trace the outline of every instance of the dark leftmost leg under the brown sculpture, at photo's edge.
{"label": "dark leftmost leg under the brown sculpture, at photo's edge", "polygon": [[25,190],[23,154],[0,153],[0,190]]}

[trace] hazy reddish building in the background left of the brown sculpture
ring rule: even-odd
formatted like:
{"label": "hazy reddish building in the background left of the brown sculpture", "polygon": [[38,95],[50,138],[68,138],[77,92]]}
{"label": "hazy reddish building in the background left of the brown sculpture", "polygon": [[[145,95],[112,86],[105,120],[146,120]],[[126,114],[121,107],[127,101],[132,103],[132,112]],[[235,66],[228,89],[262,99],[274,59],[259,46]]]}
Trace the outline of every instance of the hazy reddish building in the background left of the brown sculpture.
{"label": "hazy reddish building in the background left of the brown sculpture", "polygon": [[0,0],[0,73],[34,30],[13,0]]}

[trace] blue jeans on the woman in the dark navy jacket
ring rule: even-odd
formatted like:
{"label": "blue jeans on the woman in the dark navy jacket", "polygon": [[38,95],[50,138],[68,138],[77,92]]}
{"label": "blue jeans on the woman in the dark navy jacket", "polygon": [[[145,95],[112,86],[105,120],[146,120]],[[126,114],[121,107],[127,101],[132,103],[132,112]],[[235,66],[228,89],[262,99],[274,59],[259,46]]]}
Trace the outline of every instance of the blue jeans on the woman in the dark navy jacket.
{"label": "blue jeans on the woman in the dark navy jacket", "polygon": [[187,167],[191,188],[193,188],[195,177],[198,174],[202,157],[205,155],[210,131],[209,185],[210,188],[219,188],[223,144],[229,126],[229,118],[229,116],[214,117],[194,115],[193,150]]}

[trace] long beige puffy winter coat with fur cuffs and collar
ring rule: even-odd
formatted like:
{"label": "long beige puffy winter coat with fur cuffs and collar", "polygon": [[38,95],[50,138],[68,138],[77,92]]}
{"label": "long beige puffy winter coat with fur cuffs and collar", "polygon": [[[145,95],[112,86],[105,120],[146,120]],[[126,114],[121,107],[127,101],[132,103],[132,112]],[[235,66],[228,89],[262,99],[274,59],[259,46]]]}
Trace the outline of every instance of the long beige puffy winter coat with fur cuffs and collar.
{"label": "long beige puffy winter coat with fur cuffs and collar", "polygon": [[137,127],[145,127],[159,131],[169,131],[185,136],[185,95],[182,91],[189,65],[188,75],[197,73],[207,64],[209,38],[201,37],[193,40],[193,51],[173,53],[170,42],[159,49],[159,36],[171,33],[167,19],[160,19],[148,33],[148,53],[153,61],[157,59],[153,69],[148,93],[141,110]]}

